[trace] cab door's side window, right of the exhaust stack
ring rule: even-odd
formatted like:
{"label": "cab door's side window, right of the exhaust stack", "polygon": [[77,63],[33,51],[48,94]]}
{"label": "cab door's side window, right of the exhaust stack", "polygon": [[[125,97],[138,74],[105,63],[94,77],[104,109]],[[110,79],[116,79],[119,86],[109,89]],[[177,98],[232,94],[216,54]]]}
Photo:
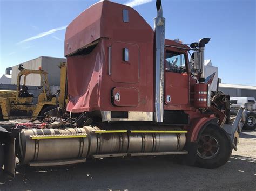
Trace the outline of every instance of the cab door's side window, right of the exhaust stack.
{"label": "cab door's side window, right of the exhaust stack", "polygon": [[165,70],[176,73],[186,72],[185,55],[181,53],[166,52]]}

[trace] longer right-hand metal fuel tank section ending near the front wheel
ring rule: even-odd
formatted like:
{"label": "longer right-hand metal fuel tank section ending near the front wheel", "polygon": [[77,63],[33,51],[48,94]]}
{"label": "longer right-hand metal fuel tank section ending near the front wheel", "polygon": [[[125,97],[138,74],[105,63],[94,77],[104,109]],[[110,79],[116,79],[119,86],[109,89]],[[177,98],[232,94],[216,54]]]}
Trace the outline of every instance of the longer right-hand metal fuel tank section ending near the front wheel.
{"label": "longer right-hand metal fuel tank section ending near the front wheel", "polygon": [[97,154],[181,151],[186,142],[185,133],[101,131],[97,127],[84,127],[84,129],[90,139],[87,157]]}

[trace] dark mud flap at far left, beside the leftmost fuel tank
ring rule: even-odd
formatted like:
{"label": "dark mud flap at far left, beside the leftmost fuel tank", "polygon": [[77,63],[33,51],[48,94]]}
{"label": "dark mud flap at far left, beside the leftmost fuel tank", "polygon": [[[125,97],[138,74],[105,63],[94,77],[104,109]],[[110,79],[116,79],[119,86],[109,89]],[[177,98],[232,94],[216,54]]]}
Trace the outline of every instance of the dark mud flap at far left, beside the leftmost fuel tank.
{"label": "dark mud flap at far left, beside the leftmost fuel tank", "polygon": [[4,173],[10,178],[14,178],[16,169],[15,156],[15,138],[11,137],[10,141],[4,145]]}

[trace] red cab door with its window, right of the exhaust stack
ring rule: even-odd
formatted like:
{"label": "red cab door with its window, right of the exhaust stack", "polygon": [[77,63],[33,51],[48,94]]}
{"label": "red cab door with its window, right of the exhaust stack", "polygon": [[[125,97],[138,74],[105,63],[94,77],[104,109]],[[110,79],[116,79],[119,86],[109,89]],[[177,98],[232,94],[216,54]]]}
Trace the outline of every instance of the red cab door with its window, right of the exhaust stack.
{"label": "red cab door with its window, right of the exhaust stack", "polygon": [[188,74],[183,53],[165,52],[165,104],[188,104]]}

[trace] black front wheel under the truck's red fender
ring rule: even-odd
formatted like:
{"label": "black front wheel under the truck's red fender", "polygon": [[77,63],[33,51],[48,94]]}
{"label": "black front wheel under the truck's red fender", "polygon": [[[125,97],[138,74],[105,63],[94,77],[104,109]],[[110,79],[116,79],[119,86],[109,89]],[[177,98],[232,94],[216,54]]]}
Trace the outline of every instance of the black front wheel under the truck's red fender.
{"label": "black front wheel under the truck's red fender", "polygon": [[201,168],[218,168],[232,153],[230,138],[218,126],[209,125],[198,139],[196,165]]}

